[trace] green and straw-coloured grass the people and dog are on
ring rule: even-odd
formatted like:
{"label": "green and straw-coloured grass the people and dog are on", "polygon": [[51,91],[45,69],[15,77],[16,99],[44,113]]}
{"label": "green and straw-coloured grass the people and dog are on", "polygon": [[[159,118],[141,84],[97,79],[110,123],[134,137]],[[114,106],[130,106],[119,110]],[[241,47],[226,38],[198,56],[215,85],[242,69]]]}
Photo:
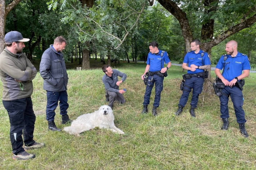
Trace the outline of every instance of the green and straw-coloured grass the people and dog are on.
{"label": "green and straw-coloured grass the people and dog are on", "polygon": [[[68,114],[71,119],[107,104],[101,81],[101,65],[98,64],[99,68],[92,70],[68,70]],[[44,142],[45,147],[29,151],[36,154],[33,160],[14,161],[9,139],[9,117],[1,104],[0,169],[256,169],[256,74],[251,73],[246,78],[243,90],[243,108],[249,133],[249,138],[244,138],[239,132],[231,101],[229,130],[220,130],[220,102],[211,93],[203,92],[199,96],[196,118],[191,118],[189,114],[191,95],[184,112],[180,116],[173,115],[182,94],[179,90],[181,75],[184,74],[181,67],[172,66],[168,70],[156,118],[151,113],[154,90],[150,98],[149,114],[140,113],[145,93],[145,85],[140,76],[144,73],[145,64],[121,63],[117,69],[128,75],[120,86],[127,89],[124,94],[126,103],[114,104],[115,125],[125,132],[124,135],[98,128],[82,133],[81,137],[48,131],[45,119],[46,92],[43,90],[43,79],[38,73],[33,80],[32,94],[36,114],[34,139]],[[1,84],[0,88],[1,93]],[[57,127],[65,127],[61,125],[59,109],[56,110],[55,122]]]}

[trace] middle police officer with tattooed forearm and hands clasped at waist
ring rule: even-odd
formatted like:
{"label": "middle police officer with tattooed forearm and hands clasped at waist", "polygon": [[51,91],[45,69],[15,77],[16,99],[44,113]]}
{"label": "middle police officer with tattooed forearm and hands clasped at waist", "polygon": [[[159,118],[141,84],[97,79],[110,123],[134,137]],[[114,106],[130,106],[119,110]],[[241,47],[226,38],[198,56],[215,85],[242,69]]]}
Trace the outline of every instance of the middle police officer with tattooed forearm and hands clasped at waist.
{"label": "middle police officer with tattooed forearm and hands clasped at waist", "polygon": [[187,74],[185,74],[186,80],[183,87],[183,93],[178,104],[178,110],[175,112],[176,116],[181,114],[183,107],[187,103],[189,93],[193,88],[193,95],[190,103],[190,115],[195,117],[195,108],[197,107],[198,96],[203,90],[205,78],[204,69],[211,68],[209,56],[207,52],[200,50],[200,45],[201,43],[199,40],[193,40],[190,44],[190,49],[192,51],[188,52],[184,57],[182,68],[187,70]]}

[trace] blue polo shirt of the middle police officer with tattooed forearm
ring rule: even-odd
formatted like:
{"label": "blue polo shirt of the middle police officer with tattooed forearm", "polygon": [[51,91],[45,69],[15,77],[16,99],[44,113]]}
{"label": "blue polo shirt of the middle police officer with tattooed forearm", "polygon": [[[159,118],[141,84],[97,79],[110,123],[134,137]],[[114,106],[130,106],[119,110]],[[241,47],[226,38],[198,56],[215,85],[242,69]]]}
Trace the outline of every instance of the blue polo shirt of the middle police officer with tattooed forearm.
{"label": "blue polo shirt of the middle police officer with tattooed forearm", "polygon": [[[202,53],[204,53],[203,56],[201,55]],[[197,65],[197,66],[211,65],[211,61],[210,61],[210,58],[208,56],[208,53],[204,52],[201,49],[198,52],[198,54],[195,54],[195,51],[188,52],[184,57],[183,63],[187,63],[189,67],[190,67],[191,64],[194,64],[194,65]],[[192,72],[191,70],[187,70],[187,73],[196,74],[196,73],[200,73],[200,72],[203,72],[203,71],[204,70],[202,70],[202,69],[195,69],[194,72]]]}

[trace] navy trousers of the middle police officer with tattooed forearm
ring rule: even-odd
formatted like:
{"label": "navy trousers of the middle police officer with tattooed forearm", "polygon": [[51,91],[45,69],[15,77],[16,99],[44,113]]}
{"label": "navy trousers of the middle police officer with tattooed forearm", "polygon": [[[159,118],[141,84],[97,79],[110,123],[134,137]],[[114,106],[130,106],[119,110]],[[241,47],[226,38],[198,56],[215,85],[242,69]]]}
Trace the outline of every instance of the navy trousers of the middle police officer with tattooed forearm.
{"label": "navy trousers of the middle police officer with tattooed forearm", "polygon": [[204,84],[204,78],[202,77],[191,77],[190,79],[186,79],[183,93],[180,97],[180,102],[178,105],[182,107],[186,105],[187,99],[189,98],[189,93],[193,88],[193,95],[191,98],[190,105],[194,108],[197,107],[198,97],[199,97],[199,94],[202,93],[203,84]]}

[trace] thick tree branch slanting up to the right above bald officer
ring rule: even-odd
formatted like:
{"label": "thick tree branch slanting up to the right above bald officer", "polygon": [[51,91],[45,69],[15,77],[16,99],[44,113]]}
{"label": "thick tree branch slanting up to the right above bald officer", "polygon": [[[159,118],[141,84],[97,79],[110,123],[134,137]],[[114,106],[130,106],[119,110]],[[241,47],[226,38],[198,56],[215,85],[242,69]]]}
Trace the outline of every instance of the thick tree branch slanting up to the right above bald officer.
{"label": "thick tree branch slanting up to the right above bald officer", "polygon": [[239,32],[240,30],[244,28],[251,27],[252,24],[256,22],[256,14],[254,14],[251,18],[248,18],[244,22],[241,22],[239,24],[236,24],[235,26],[231,27],[230,29],[224,31],[220,35],[218,35],[215,39],[213,39],[210,42],[203,43],[202,46],[204,46],[204,50],[208,51],[212,47],[218,45],[221,41],[225,40],[226,38],[230,37],[234,33]]}

